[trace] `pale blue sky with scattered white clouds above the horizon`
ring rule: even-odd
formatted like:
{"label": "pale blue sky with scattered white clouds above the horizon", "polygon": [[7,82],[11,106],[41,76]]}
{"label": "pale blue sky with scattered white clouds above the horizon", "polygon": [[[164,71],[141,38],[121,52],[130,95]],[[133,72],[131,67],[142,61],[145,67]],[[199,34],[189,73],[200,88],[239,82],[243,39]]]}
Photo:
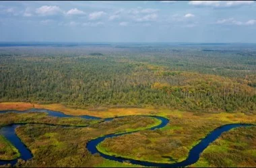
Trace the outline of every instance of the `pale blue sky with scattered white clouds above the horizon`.
{"label": "pale blue sky with scattered white clouds above the horizon", "polygon": [[0,1],[0,42],[256,42],[255,1]]}

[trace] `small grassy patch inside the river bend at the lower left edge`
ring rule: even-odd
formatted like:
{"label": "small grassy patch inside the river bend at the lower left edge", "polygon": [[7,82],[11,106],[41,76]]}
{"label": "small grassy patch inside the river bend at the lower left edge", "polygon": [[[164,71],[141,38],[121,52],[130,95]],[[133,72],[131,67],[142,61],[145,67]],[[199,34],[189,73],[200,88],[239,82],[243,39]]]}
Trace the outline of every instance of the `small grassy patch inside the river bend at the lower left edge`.
{"label": "small grassy patch inside the river bend at the lower left edge", "polygon": [[18,149],[16,149],[4,136],[0,135],[0,159],[13,160],[18,157],[20,157]]}

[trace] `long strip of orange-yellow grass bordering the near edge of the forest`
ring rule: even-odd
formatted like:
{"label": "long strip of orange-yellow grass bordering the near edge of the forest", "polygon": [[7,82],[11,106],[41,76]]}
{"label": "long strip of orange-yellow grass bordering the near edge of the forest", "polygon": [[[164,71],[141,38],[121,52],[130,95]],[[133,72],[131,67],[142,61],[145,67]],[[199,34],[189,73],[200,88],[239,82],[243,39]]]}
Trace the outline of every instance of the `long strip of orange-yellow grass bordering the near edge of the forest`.
{"label": "long strip of orange-yellow grass bordering the near edge of the forest", "polygon": [[[106,111],[90,111],[84,109],[68,108],[60,103],[53,104],[36,104],[36,103],[24,103],[24,102],[2,102],[0,103],[0,110],[28,110],[30,108],[44,108],[48,110],[54,110],[70,114],[74,116],[89,115],[100,118],[110,118],[115,116],[131,116],[131,115],[156,115],[164,117],[177,117],[183,118],[195,118],[194,112],[181,112],[179,110],[168,109],[154,109],[154,108],[109,108]],[[216,119],[226,123],[256,123],[255,116],[247,116],[243,113],[236,112],[234,114],[222,112],[218,114],[200,113],[199,118]],[[197,118],[196,117],[196,118]]]}

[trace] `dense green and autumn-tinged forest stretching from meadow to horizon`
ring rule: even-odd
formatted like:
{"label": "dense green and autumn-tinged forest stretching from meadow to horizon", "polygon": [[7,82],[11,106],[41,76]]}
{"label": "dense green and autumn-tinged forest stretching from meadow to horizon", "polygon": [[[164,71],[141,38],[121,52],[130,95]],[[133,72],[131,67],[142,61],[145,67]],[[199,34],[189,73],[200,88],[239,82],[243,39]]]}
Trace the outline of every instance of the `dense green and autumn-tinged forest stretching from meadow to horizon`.
{"label": "dense green and autumn-tinged forest stretching from meadow to horizon", "polygon": [[256,48],[250,44],[0,49],[0,101],[256,112]]}

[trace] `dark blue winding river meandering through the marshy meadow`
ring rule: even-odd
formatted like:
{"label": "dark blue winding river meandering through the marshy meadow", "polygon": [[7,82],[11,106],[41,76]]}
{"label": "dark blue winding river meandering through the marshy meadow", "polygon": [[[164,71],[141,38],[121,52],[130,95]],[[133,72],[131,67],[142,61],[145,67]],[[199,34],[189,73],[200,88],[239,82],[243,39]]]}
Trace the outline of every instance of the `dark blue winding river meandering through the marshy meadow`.
{"label": "dark blue winding river meandering through the marshy meadow", "polygon": [[[45,112],[49,116],[55,116],[55,117],[61,117],[61,118],[74,117],[71,115],[63,114],[62,112],[56,112],[56,111],[46,110],[46,109],[36,109],[36,108],[30,109],[30,110],[25,110],[25,111],[3,110],[3,111],[0,111],[0,114],[6,113],[6,112],[17,112],[17,113]],[[143,115],[141,115],[141,116],[143,116]],[[98,117],[94,117],[94,116],[76,116],[76,117],[92,119],[92,120],[104,120],[104,121],[113,120],[113,118],[98,118]],[[123,117],[125,117],[125,116],[121,116],[118,118],[123,118]],[[150,130],[163,128],[169,122],[168,119],[160,117],[160,116],[150,116],[150,117],[154,117],[154,118],[157,118],[158,120],[161,120],[161,123],[158,124],[158,126],[154,126],[154,127],[150,128]],[[15,146],[15,148],[18,149],[18,151],[21,154],[21,156],[18,157],[18,159],[23,159],[26,161],[28,159],[32,159],[33,155],[30,152],[30,150],[26,147],[26,145],[22,142],[22,140],[20,140],[20,138],[17,136],[17,134],[15,134],[15,128],[17,128],[18,126],[21,126],[21,125],[24,125],[24,124],[11,124],[8,126],[4,126],[3,128],[1,128],[0,134],[5,136],[5,138],[7,138],[7,140],[9,140],[13,144],[13,146]],[[54,126],[54,124],[48,124],[48,125]],[[220,126],[219,128],[216,128],[215,130],[210,132],[210,134],[205,136],[205,138],[202,138],[198,144],[193,146],[193,148],[189,151],[189,156],[187,157],[187,159],[185,159],[184,161],[181,161],[179,163],[154,163],[154,162],[148,162],[148,161],[139,161],[139,160],[135,160],[135,159],[127,159],[124,157],[105,155],[104,153],[100,153],[100,151],[98,151],[98,149],[96,149],[96,146],[100,142],[102,142],[105,138],[122,136],[124,134],[131,134],[131,133],[137,132],[137,131],[124,132],[121,134],[107,134],[105,136],[90,140],[87,143],[86,148],[92,154],[100,153],[100,155],[102,157],[104,157],[105,159],[110,159],[113,161],[119,161],[119,162],[129,161],[132,164],[143,165],[143,166],[148,166],[148,167],[185,167],[185,166],[188,166],[188,165],[191,165],[191,164],[197,162],[199,159],[199,155],[203,152],[203,150],[206,149],[207,146],[211,142],[214,142],[214,140],[216,140],[223,132],[226,132],[232,128],[237,128],[237,127],[241,127],[241,126],[255,126],[255,125],[253,125],[253,124],[226,124],[224,126]],[[79,126],[79,127],[81,127],[81,126]],[[18,159],[13,159],[11,161],[0,160],[0,165],[4,165],[4,164],[8,164],[8,163],[10,163],[11,165],[15,165],[15,163],[17,163]]]}

